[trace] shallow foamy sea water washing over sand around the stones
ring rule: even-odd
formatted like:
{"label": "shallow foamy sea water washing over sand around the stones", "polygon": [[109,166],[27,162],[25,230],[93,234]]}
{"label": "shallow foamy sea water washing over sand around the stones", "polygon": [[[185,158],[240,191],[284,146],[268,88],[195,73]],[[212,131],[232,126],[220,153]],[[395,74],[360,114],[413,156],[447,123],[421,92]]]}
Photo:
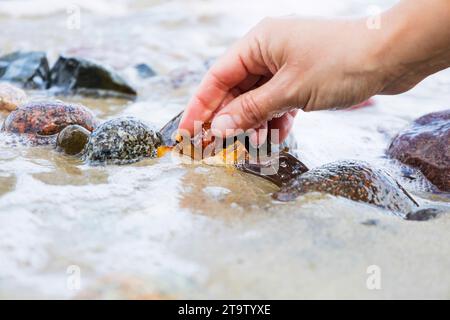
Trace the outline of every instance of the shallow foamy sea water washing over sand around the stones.
{"label": "shallow foamy sea water washing over sand around the stones", "polygon": [[[157,127],[183,109],[208,62],[263,16],[367,9],[357,0],[75,2],[79,30],[66,27],[68,1],[0,2],[2,53],[45,50],[52,62],[69,53],[108,63],[138,88],[136,102],[60,99],[101,119],[134,115]],[[132,66],[141,62],[159,76],[139,80]],[[449,85],[445,71],[372,107],[301,113],[300,158],[309,167],[364,159],[398,174],[384,150],[414,118],[449,108]],[[278,203],[273,185],[227,168],[171,157],[89,167],[5,139],[0,298],[450,298],[450,214],[407,222],[314,194]],[[422,204],[450,213],[445,197],[404,183]],[[381,290],[366,286],[370,265],[381,270]],[[81,271],[80,290],[67,284],[70,266]]]}

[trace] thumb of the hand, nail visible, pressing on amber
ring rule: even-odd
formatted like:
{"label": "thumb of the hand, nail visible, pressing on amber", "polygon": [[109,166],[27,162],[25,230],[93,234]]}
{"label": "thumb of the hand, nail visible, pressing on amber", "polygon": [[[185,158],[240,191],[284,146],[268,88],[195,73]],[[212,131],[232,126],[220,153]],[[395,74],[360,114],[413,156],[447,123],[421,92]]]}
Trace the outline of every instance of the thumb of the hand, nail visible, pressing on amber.
{"label": "thumb of the hand, nail visible, pressing on amber", "polygon": [[236,97],[214,117],[213,132],[232,136],[237,129],[258,128],[274,114],[286,111],[290,82],[287,73],[280,70],[261,87]]}

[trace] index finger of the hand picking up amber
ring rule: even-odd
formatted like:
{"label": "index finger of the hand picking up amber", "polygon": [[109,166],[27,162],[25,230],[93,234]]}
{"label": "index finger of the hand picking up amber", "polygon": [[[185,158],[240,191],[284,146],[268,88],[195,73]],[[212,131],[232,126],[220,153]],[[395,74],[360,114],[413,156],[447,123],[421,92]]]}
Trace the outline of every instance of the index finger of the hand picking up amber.
{"label": "index finger of the hand picking up amber", "polygon": [[242,44],[235,45],[206,73],[188,103],[179,129],[194,132],[194,121],[208,121],[232,88],[250,74],[241,55]]}

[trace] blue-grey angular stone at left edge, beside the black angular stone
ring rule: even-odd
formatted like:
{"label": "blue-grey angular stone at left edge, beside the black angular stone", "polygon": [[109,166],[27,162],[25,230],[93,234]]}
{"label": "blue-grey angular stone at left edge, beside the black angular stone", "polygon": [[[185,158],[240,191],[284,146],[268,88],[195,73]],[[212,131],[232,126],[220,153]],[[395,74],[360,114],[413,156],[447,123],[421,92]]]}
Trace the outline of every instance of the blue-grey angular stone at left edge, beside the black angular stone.
{"label": "blue-grey angular stone at left edge, beside the black angular stone", "polygon": [[11,81],[27,89],[46,89],[50,73],[44,52],[13,52],[0,57],[0,80]]}

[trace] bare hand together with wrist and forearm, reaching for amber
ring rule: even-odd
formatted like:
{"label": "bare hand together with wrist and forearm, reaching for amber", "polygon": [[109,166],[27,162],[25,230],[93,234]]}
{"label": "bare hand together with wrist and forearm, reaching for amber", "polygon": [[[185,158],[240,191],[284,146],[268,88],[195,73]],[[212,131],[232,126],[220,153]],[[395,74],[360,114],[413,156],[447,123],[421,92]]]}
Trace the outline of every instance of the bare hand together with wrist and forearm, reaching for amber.
{"label": "bare hand together with wrist and forearm, reaching for amber", "polygon": [[216,135],[256,128],[256,144],[269,127],[283,141],[298,109],[399,94],[450,66],[450,0],[403,0],[379,21],[264,19],[208,71],[179,129],[212,120]]}

